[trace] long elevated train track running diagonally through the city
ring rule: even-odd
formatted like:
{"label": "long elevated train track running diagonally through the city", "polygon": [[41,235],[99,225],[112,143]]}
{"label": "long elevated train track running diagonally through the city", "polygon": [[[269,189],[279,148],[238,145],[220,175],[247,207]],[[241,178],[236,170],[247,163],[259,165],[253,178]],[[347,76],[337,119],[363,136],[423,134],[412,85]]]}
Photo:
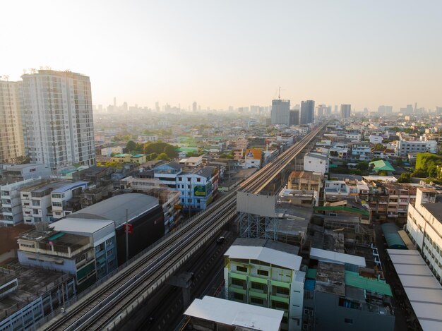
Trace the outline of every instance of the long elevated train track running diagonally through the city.
{"label": "long elevated train track running diagonally through the city", "polygon": [[42,325],[41,329],[112,330],[117,327],[136,311],[139,304],[148,300],[157,287],[177,272],[198,248],[237,216],[237,191],[263,191],[324,127],[325,124],[322,124],[315,128],[276,160],[256,171],[249,179],[172,232],[124,270],[73,303],[66,312]]}

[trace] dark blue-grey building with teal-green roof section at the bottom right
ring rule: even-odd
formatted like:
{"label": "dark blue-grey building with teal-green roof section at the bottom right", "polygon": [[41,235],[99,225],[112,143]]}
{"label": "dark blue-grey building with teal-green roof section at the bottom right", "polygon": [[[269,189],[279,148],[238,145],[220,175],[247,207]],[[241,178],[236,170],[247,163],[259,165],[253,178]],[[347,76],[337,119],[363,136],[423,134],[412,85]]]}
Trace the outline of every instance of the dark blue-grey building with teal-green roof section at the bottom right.
{"label": "dark blue-grey building with teal-green roof section at the bottom right", "polygon": [[341,254],[345,258],[336,260],[336,254],[318,258],[307,271],[303,330],[395,330],[390,286],[364,268],[349,270],[359,257]]}

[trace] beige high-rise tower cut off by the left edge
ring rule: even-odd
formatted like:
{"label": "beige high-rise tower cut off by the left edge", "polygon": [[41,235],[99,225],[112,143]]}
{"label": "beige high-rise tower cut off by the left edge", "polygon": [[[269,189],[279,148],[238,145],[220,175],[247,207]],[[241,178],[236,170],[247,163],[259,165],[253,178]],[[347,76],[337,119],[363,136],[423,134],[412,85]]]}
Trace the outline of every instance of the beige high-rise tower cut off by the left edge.
{"label": "beige high-rise tower cut off by the left edge", "polygon": [[25,155],[20,84],[0,80],[0,163]]}

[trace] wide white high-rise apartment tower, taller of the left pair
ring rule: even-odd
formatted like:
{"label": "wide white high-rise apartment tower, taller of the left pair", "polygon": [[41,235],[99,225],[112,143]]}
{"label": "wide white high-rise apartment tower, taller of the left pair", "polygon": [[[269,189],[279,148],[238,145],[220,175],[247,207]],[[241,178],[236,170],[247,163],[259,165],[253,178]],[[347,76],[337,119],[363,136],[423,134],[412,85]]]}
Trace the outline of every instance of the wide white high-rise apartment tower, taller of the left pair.
{"label": "wide white high-rise apartment tower, taller of the left pair", "polygon": [[95,164],[92,97],[88,76],[40,70],[25,74],[23,111],[31,162],[52,169]]}

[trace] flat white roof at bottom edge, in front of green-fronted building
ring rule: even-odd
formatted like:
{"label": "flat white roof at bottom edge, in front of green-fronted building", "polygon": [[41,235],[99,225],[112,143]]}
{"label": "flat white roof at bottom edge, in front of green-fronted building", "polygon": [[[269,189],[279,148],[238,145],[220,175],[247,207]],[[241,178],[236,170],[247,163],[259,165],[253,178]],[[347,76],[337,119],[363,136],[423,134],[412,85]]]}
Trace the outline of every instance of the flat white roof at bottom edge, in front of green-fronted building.
{"label": "flat white roof at bottom edge, in front of green-fronted building", "polygon": [[251,330],[278,331],[284,312],[204,296],[202,300],[195,299],[184,315]]}

